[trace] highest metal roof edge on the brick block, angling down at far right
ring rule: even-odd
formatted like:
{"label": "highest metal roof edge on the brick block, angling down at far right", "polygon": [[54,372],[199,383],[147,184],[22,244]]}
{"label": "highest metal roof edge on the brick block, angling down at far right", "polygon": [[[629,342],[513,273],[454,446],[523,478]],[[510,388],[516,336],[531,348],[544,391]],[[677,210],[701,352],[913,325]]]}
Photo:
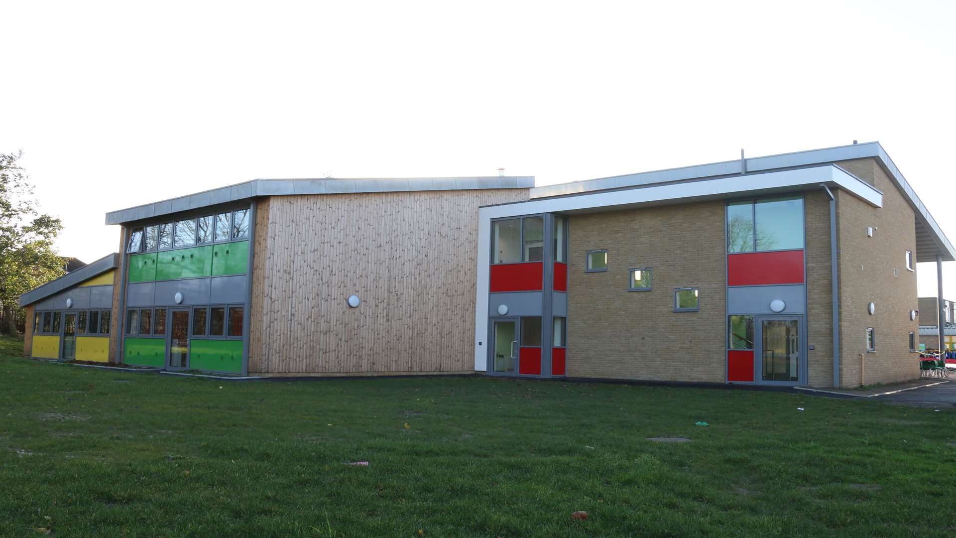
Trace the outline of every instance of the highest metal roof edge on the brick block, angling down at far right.
{"label": "highest metal roof edge on the brick block, angling down at far right", "polygon": [[739,175],[742,172],[767,171],[779,168],[798,168],[820,164],[849,161],[852,159],[876,158],[880,167],[890,176],[896,186],[902,191],[903,197],[916,213],[916,260],[935,261],[939,254],[943,261],[956,260],[956,249],[949,242],[916,191],[903,177],[879,142],[852,144],[849,146],[826,147],[810,149],[793,153],[781,153],[766,157],[750,157],[735,159],[721,163],[697,165],[692,167],[668,168],[612,177],[576,181],[545,187],[535,187],[531,191],[531,198],[561,196],[588,191],[626,190],[661,183],[684,183],[704,178],[713,178],[728,175]]}

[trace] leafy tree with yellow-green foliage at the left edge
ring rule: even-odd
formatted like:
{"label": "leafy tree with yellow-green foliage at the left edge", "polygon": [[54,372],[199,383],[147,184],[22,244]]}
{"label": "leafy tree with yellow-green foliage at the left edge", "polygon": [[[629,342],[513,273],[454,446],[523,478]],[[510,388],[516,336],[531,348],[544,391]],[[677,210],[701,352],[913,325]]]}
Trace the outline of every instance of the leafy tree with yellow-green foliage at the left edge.
{"label": "leafy tree with yellow-green foliage at the left edge", "polygon": [[0,334],[16,333],[20,294],[63,275],[54,252],[63,225],[36,210],[33,185],[17,164],[22,156],[0,153]]}

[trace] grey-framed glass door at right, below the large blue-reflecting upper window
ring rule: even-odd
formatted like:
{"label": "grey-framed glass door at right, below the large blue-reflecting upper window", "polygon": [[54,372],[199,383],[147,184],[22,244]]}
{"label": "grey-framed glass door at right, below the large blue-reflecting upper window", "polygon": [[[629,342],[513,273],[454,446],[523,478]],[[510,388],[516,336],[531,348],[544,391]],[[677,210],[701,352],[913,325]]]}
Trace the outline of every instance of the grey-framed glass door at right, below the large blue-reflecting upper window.
{"label": "grey-framed glass door at right, below the large blue-reflecting upper window", "polygon": [[803,370],[799,318],[757,318],[757,382],[796,385]]}

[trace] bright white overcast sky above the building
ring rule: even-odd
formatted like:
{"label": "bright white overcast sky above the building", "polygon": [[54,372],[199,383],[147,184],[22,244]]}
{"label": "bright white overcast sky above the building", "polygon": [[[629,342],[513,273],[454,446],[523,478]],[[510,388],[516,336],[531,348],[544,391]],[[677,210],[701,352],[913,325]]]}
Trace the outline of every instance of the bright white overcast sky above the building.
{"label": "bright white overcast sky above the building", "polygon": [[[538,185],[879,140],[946,235],[952,2],[11,2],[0,151],[60,253],[260,177]],[[956,299],[956,263],[946,263]],[[936,295],[919,264],[920,295]]]}

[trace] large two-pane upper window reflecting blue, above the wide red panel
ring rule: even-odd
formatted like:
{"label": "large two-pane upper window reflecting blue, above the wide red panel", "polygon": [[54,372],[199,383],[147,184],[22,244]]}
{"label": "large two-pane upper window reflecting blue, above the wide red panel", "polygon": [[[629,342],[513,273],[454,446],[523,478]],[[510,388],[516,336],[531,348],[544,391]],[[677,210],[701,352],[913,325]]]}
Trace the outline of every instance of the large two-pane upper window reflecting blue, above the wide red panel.
{"label": "large two-pane upper window reflecting blue, above the wide red panel", "polygon": [[728,253],[802,248],[802,197],[768,198],[727,205]]}

